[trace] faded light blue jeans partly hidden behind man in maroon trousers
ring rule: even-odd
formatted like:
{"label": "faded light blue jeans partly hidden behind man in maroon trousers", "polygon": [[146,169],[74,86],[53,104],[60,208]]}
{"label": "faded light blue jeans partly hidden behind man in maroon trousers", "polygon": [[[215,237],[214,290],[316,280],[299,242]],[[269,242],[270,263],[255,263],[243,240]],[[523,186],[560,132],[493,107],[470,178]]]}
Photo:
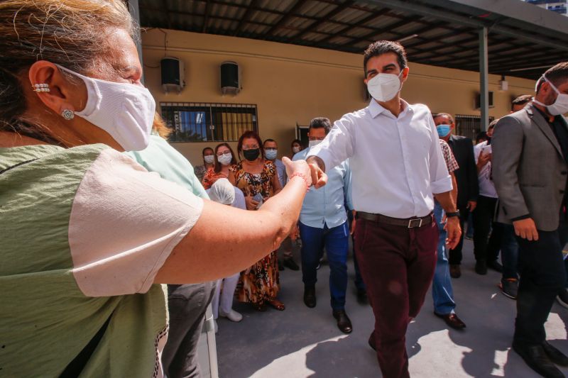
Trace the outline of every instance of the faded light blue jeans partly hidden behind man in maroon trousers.
{"label": "faded light blue jeans partly hidden behind man in maroon trousers", "polygon": [[442,206],[437,202],[434,205],[434,216],[439,230],[438,237],[438,260],[432,281],[432,299],[434,300],[434,311],[442,315],[453,313],[456,307],[454,302],[454,290],[452,289],[452,279],[449,277],[449,265],[446,256],[446,230],[442,223]]}

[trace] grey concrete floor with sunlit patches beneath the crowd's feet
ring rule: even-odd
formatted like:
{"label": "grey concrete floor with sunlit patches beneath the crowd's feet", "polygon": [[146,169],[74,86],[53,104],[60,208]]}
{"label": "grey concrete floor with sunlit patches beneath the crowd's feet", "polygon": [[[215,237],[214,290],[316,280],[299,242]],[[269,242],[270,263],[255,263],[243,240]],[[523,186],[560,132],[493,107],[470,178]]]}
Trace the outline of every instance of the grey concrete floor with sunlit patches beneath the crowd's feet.
{"label": "grey concrete floor with sunlit patches beneath the crowd's feet", "polygon": [[[295,250],[295,260],[300,261]],[[466,323],[463,331],[448,329],[432,313],[427,294],[420,315],[408,328],[406,346],[412,377],[539,377],[510,350],[515,301],[501,294],[501,275],[490,270],[479,276],[473,270],[473,245],[464,243],[462,276],[454,279],[456,312]],[[373,329],[370,306],[356,302],[354,269],[349,260],[346,311],[354,330],[337,329],[329,306],[329,267],[318,271],[317,306],[302,301],[302,273],[280,272],[280,300],[285,311],[265,313],[234,304],[243,314],[240,323],[219,318],[217,353],[219,376],[240,377],[381,377],[376,355],[367,339]],[[568,310],[555,304],[546,324],[547,338],[568,354]],[[568,374],[568,369],[563,369]]]}

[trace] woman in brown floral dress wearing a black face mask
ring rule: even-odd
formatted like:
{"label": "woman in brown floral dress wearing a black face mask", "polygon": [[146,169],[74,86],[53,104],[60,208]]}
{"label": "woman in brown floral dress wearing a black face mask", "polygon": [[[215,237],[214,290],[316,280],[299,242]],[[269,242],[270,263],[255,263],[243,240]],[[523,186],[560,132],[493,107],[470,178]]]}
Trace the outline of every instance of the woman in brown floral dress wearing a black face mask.
{"label": "woman in brown floral dress wearing a black face mask", "polygon": [[[282,189],[276,167],[273,162],[264,159],[262,140],[254,131],[241,135],[237,152],[239,157],[242,153],[244,159],[229,168],[229,181],[243,191],[246,209],[254,211],[261,205],[253,199],[256,194],[261,194],[263,201],[266,201]],[[278,258],[276,251],[273,251],[241,272],[236,296],[239,301],[250,303],[258,311],[265,311],[266,304],[283,311],[284,304],[276,299],[279,290]]]}

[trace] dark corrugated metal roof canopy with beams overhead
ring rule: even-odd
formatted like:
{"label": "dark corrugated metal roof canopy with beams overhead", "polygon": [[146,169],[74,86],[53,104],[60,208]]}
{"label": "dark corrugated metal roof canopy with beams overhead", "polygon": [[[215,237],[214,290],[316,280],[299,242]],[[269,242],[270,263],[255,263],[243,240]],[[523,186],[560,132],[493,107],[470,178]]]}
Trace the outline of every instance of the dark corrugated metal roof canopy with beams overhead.
{"label": "dark corrugated metal roof canopy with beams overhead", "polygon": [[[568,18],[520,0],[138,0],[141,26],[362,53],[399,40],[411,62],[537,79],[568,60]],[[483,68],[483,64],[481,65]]]}

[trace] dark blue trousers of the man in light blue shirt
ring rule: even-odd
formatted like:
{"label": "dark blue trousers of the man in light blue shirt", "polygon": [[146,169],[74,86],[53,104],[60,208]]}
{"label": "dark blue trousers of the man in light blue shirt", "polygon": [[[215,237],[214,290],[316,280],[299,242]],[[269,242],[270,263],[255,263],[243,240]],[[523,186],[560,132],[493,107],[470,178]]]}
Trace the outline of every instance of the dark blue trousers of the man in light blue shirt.
{"label": "dark blue trousers of the man in light blue shirt", "polygon": [[306,287],[313,287],[317,282],[317,265],[320,263],[320,251],[325,246],[329,262],[329,293],[332,296],[332,308],[345,308],[347,290],[347,252],[349,250],[349,227],[347,222],[334,228],[315,228],[298,222],[302,237],[302,281]]}

